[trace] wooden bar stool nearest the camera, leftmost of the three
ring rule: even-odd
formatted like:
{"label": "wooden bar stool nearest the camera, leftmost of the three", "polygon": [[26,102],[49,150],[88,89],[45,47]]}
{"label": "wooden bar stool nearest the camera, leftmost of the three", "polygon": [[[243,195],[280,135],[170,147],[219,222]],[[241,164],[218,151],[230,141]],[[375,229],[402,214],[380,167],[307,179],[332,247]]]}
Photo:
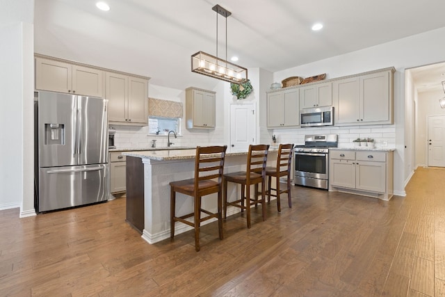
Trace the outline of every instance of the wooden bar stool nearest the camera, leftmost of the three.
{"label": "wooden bar stool nearest the camera, leftmost of the three", "polygon": [[[170,238],[175,236],[175,222],[191,225],[195,228],[195,250],[200,250],[200,224],[210,218],[218,219],[220,239],[223,239],[223,170],[227,145],[196,147],[195,178],[170,182]],[[194,210],[190,214],[175,215],[176,192],[192,196]],[[218,193],[218,212],[211,213],[201,208],[202,196]],[[201,212],[207,214],[201,218]],[[194,218],[193,222],[186,218]]]}

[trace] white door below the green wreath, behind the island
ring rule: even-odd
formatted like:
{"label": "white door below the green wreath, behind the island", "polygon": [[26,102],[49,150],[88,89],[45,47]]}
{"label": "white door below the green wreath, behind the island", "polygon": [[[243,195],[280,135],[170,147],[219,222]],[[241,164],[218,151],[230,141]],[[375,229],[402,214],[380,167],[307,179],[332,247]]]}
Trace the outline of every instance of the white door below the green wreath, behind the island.
{"label": "white door below the green wreath, behind the island", "polygon": [[256,113],[253,103],[230,104],[229,152],[247,152],[255,143]]}

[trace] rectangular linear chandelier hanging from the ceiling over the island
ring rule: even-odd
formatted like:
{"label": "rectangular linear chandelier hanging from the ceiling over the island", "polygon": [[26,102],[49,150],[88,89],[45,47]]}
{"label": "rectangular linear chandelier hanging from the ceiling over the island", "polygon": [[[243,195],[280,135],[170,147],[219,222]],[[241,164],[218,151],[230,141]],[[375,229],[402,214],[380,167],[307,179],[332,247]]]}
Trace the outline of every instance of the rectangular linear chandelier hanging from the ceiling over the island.
{"label": "rectangular linear chandelier hanging from the ceiling over the island", "polygon": [[[227,61],[227,17],[232,13],[218,4],[213,6],[212,10],[216,11],[216,56],[204,51],[193,54],[191,56],[192,72],[228,81],[229,83],[244,83],[248,80],[247,68]],[[218,14],[225,17],[225,60],[218,58]]]}

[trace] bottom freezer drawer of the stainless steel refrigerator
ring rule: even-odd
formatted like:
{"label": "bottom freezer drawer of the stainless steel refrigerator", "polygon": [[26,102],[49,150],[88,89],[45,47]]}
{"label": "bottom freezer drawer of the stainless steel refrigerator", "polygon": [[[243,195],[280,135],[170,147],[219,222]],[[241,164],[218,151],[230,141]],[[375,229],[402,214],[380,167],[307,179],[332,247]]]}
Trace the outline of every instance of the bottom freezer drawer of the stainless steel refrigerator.
{"label": "bottom freezer drawer of the stainless steel refrigerator", "polygon": [[108,164],[40,168],[38,211],[108,200]]}

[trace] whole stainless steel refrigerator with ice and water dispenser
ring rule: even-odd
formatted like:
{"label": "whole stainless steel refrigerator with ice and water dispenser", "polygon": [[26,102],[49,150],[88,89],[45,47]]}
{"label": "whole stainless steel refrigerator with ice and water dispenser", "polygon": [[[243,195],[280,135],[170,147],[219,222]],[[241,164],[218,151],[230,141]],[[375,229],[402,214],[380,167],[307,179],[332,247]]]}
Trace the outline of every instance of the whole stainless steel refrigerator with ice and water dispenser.
{"label": "whole stainless steel refrigerator with ice and water dispenser", "polygon": [[38,212],[108,199],[108,100],[38,92]]}

